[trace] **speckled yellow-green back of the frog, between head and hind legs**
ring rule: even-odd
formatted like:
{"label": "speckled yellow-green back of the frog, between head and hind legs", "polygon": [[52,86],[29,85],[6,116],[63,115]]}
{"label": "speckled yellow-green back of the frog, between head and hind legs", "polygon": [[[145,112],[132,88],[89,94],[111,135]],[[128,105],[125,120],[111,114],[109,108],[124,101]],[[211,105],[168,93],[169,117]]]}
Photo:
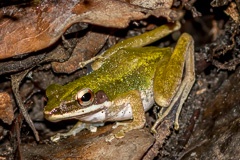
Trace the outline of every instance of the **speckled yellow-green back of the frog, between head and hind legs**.
{"label": "speckled yellow-green back of the frog, between head and hind legs", "polygon": [[122,49],[92,76],[100,79],[100,89],[114,99],[130,90],[146,90],[152,85],[152,79],[158,62],[167,58],[170,48],[142,47]]}

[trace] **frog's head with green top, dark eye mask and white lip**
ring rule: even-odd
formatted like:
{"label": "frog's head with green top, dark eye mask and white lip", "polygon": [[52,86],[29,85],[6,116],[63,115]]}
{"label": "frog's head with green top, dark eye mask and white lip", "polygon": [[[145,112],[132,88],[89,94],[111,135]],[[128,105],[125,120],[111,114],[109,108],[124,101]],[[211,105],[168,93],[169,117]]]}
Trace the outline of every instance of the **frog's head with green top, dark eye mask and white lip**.
{"label": "frog's head with green top, dark eye mask and white lip", "polygon": [[[64,119],[92,121],[89,117],[96,118],[96,116],[98,118],[95,121],[101,121],[104,119],[106,108],[111,105],[105,92],[96,88],[90,89],[79,86],[72,88],[52,84],[48,86],[46,95],[48,102],[44,108],[44,116],[52,122]],[[101,113],[101,116],[99,116],[99,113]]]}

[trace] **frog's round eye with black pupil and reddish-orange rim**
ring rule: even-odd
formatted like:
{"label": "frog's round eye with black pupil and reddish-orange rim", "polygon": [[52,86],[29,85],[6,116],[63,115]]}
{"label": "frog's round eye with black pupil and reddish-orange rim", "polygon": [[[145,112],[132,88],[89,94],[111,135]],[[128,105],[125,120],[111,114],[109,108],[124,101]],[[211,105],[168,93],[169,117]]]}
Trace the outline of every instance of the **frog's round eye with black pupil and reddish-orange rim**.
{"label": "frog's round eye with black pupil and reddish-orange rim", "polygon": [[85,107],[91,105],[94,101],[93,91],[89,88],[83,88],[76,94],[78,103]]}

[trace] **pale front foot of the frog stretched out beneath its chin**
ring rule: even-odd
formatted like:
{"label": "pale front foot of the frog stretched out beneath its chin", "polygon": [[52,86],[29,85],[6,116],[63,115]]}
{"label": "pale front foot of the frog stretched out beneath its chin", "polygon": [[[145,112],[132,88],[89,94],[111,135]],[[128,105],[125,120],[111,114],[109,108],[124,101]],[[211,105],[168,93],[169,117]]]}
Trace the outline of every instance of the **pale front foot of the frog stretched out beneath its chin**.
{"label": "pale front foot of the frog stretched out beneath its chin", "polygon": [[70,131],[68,131],[66,133],[58,133],[58,134],[52,136],[50,139],[52,142],[58,142],[62,138],[66,138],[69,136],[75,136],[78,132],[80,132],[84,129],[87,129],[91,132],[97,132],[98,126],[103,126],[103,124],[102,123],[91,124],[91,123],[83,123],[83,122],[78,121],[77,124],[75,124],[74,127]]}

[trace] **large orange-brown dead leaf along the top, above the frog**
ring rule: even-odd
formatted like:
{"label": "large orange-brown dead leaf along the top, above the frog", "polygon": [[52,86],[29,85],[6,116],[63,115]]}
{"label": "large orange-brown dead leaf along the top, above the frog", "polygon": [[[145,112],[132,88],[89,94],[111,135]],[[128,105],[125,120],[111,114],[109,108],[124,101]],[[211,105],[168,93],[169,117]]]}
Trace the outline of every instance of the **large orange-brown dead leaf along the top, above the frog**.
{"label": "large orange-brown dead leaf along the top, above the frog", "polygon": [[0,10],[0,59],[20,56],[55,43],[72,24],[86,22],[125,28],[131,20],[150,15],[177,18],[168,8],[146,9],[118,0],[50,0],[38,6],[8,6]]}

